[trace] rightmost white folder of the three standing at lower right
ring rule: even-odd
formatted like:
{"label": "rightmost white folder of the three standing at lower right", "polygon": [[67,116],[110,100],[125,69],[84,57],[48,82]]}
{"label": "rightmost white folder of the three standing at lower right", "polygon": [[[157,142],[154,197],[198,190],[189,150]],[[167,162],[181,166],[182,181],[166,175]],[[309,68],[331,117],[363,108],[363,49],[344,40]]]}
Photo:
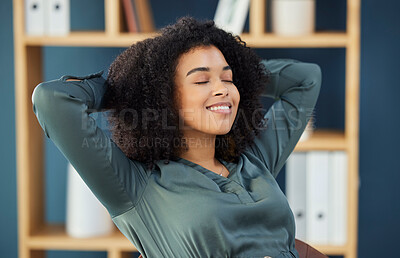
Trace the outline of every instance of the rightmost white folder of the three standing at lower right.
{"label": "rightmost white folder of the three standing at lower right", "polygon": [[346,244],[347,228],[347,155],[332,151],[330,156],[329,244]]}

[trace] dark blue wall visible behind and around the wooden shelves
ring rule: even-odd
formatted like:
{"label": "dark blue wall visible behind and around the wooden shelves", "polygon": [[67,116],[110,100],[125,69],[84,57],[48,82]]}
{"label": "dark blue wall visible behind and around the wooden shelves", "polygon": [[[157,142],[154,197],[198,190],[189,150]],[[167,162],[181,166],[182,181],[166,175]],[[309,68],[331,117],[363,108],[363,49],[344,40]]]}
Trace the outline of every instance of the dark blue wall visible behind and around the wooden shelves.
{"label": "dark blue wall visible behind and around the wooden shelves", "polygon": [[[101,1],[100,1],[101,2]],[[158,28],[190,14],[213,18],[218,0],[152,0]],[[98,0],[71,0],[73,30],[104,29],[104,6]],[[169,10],[165,12],[165,10]],[[361,93],[360,93],[360,200],[359,257],[396,257],[400,230],[400,170],[395,165],[400,129],[397,107],[400,85],[400,2],[362,1]],[[16,148],[12,0],[0,1],[0,256],[17,257]],[[317,29],[345,28],[346,1],[317,1]],[[248,26],[248,25],[247,25]],[[61,75],[107,70],[120,48],[44,48],[44,79]],[[345,50],[337,49],[257,49],[263,58],[294,58],[318,63],[323,84],[316,106],[318,128],[344,128]],[[268,103],[267,103],[268,105]],[[33,114],[33,113],[32,113]],[[46,219],[65,220],[66,160],[46,140]],[[284,173],[278,181],[283,185]],[[106,257],[105,252],[49,252],[49,257]]]}

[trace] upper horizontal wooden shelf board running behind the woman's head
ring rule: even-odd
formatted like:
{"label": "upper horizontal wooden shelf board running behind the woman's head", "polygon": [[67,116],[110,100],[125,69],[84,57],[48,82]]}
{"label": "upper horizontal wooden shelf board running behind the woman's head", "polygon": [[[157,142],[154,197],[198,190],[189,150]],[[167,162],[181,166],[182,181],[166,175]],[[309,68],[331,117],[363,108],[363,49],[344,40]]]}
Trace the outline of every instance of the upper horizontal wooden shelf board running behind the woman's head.
{"label": "upper horizontal wooden shelf board running behind the woman's head", "polygon": [[[28,46],[92,46],[92,47],[128,47],[137,41],[154,37],[157,33],[118,33],[109,35],[105,32],[71,32],[63,37],[25,36]],[[316,32],[310,36],[282,37],[273,33],[259,36],[242,34],[241,39],[250,47],[290,48],[290,47],[346,47],[348,37],[345,32]]]}

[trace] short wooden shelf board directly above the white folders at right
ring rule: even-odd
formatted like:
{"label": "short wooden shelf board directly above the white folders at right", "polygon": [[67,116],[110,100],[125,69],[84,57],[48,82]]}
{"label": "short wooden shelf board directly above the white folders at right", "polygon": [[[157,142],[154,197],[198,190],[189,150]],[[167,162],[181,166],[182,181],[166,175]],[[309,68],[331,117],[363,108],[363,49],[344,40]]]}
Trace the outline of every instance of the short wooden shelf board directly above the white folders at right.
{"label": "short wooden shelf board directly above the white folders at right", "polygon": [[315,130],[309,139],[299,141],[294,151],[311,150],[346,150],[346,139],[343,131]]}

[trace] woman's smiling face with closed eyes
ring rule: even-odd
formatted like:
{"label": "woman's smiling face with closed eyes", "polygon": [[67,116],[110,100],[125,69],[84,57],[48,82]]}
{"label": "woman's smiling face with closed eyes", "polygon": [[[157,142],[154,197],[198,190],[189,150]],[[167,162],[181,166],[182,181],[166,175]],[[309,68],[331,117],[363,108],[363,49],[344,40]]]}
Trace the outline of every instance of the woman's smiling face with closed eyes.
{"label": "woman's smiling face with closed eyes", "polygon": [[240,101],[232,80],[232,70],[215,46],[193,48],[178,59],[175,85],[184,132],[223,135],[231,130]]}

